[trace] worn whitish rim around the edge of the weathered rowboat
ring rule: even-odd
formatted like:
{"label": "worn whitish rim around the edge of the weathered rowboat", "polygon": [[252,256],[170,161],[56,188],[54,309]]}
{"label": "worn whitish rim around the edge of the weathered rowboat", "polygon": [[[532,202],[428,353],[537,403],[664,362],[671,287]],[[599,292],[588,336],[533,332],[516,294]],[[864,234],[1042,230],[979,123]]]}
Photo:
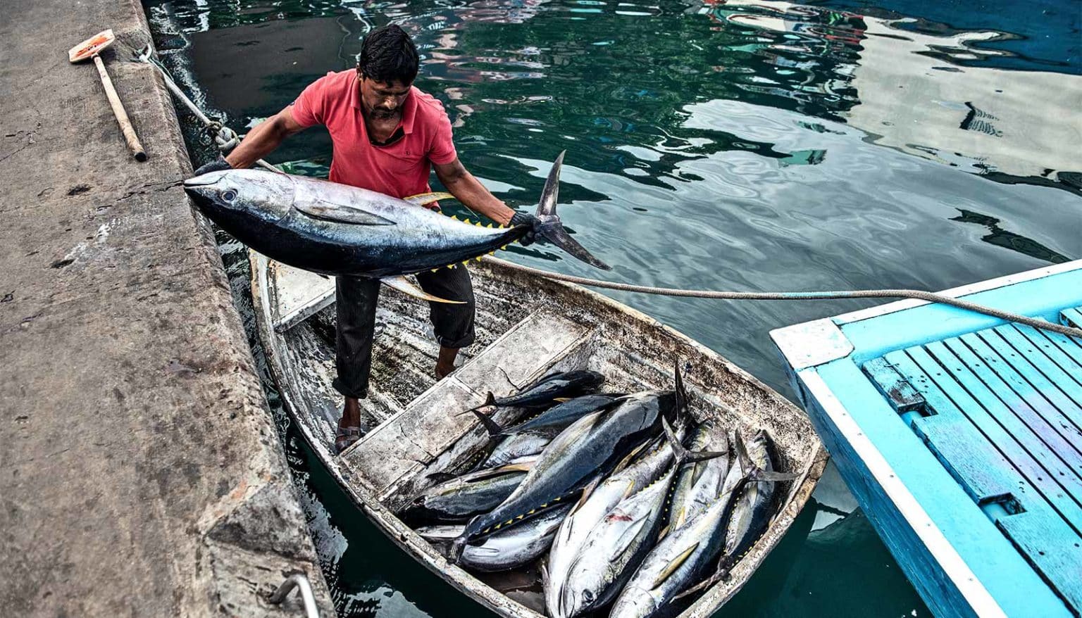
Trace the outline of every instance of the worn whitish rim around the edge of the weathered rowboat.
{"label": "worn whitish rim around the edge of the weathered rowboat", "polygon": [[[737,563],[736,568],[730,574],[727,582],[716,582],[699,596],[690,606],[682,612],[677,618],[705,618],[716,612],[722,605],[728,602],[748,582],[755,570],[762,565],[769,552],[778,545],[780,539],[788,533],[796,515],[807,503],[812,492],[815,489],[819,478],[822,475],[829,458],[827,449],[812,427],[810,419],[792,402],[781,397],[777,391],[769,388],[761,380],[734,364],[731,361],[708,348],[701,342],[690,338],[679,331],[662,324],[658,320],[629,307],[604,294],[594,292],[575,283],[554,281],[539,276],[524,274],[519,271],[511,270],[501,265],[503,260],[485,259],[483,268],[487,268],[493,277],[504,280],[515,278],[530,278],[536,280],[539,287],[551,286],[546,291],[551,295],[570,295],[584,297],[584,299],[599,304],[610,311],[622,313],[633,322],[643,324],[646,328],[655,328],[663,335],[670,337],[678,347],[691,348],[694,351],[710,360],[717,366],[729,372],[735,379],[743,381],[762,393],[765,400],[770,401],[781,409],[790,409],[794,415],[802,417],[808,427],[810,435],[809,453],[806,454],[803,470],[800,475],[792,481],[793,485],[781,502],[781,508],[770,520],[766,530],[755,540],[751,548],[747,550],[742,560]],[[251,266],[251,293],[253,306],[255,308],[256,328],[260,341],[263,344],[264,353],[267,359],[267,366],[270,377],[278,388],[279,395],[287,413],[293,419],[304,435],[309,446],[317,454],[320,461],[335,479],[339,485],[354,501],[355,506],[377,525],[395,545],[407,551],[431,572],[447,581],[450,586],[465,593],[474,601],[480,603],[488,609],[500,616],[514,618],[545,618],[542,614],[526,607],[512,600],[506,594],[486,585],[473,574],[460,566],[448,562],[439,554],[431,543],[422,539],[412,528],[399,520],[378,496],[361,483],[349,481],[349,474],[339,465],[338,458],[332,456],[326,444],[322,444],[319,436],[312,433],[308,424],[299,419],[296,402],[293,401],[292,380],[287,379],[287,372],[281,364],[277,342],[281,340],[281,333],[273,327],[273,312],[270,309],[270,294],[264,290],[270,287],[267,281],[267,268],[269,258],[254,251],[249,251],[249,264]],[[554,288],[555,292],[551,290]],[[283,385],[285,382],[285,385]],[[437,382],[438,384],[438,382]],[[427,392],[427,389],[426,391]],[[381,424],[382,425],[382,424]],[[373,428],[374,430],[374,428]]]}

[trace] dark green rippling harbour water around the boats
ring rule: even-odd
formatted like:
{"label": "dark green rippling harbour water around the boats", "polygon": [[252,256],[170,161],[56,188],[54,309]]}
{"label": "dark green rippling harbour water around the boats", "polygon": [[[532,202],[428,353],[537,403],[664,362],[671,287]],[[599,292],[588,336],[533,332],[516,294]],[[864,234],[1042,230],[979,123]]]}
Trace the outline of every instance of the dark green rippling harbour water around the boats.
{"label": "dark green rippling harbour water around the boats", "polygon": [[[1071,1],[146,2],[174,77],[241,130],[353,66],[395,22],[466,166],[528,205],[568,151],[562,215],[613,280],[715,290],[938,290],[1082,254],[1079,11]],[[182,118],[197,158],[207,157]],[[330,154],[326,133],[273,161]],[[252,333],[247,261],[220,236]],[[585,265],[518,248],[518,261]],[[613,294],[792,394],[768,331],[867,303]],[[256,359],[262,353],[254,338]],[[264,372],[264,378],[266,374]],[[280,420],[343,616],[484,610],[357,514]],[[833,468],[718,616],[928,610]]]}

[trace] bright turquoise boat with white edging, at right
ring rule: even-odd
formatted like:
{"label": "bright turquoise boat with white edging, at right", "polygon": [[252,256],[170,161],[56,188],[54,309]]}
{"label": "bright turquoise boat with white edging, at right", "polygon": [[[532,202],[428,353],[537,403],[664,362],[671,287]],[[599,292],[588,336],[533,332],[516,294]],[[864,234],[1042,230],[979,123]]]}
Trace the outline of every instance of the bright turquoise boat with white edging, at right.
{"label": "bright turquoise boat with white edging, at right", "polygon": [[[948,291],[1082,326],[1082,260]],[[937,616],[1082,610],[1082,340],[905,300],[771,333]]]}

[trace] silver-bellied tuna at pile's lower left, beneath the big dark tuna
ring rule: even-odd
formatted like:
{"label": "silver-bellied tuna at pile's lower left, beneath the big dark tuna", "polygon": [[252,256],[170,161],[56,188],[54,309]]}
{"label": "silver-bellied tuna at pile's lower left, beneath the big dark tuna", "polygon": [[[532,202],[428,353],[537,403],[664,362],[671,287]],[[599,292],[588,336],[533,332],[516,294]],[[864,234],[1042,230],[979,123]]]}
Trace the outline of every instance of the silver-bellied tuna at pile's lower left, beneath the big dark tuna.
{"label": "silver-bellied tuna at pile's lower left, beneath the big dark tuna", "polygon": [[[525,566],[541,557],[552,545],[556,529],[571,510],[572,505],[558,505],[530,518],[517,526],[467,543],[459,564],[478,572],[490,573]],[[449,547],[462,534],[463,526],[431,526],[419,528],[417,534],[437,547]]]}

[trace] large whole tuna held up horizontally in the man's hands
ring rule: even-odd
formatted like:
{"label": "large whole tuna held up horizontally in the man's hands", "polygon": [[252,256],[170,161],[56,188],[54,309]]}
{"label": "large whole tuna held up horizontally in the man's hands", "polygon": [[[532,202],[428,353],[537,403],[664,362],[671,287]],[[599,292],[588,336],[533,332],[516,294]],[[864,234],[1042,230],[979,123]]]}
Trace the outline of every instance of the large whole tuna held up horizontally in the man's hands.
{"label": "large whole tuna held up horizontally in the man's hands", "polygon": [[[564,153],[537,209],[538,236],[597,268],[609,267],[564,229],[556,214]],[[447,193],[399,199],[329,180],[265,170],[224,170],[184,180],[211,220],[251,248],[290,266],[380,279],[428,299],[403,276],[465,264],[523,239],[529,226],[480,227],[418,207]]]}

